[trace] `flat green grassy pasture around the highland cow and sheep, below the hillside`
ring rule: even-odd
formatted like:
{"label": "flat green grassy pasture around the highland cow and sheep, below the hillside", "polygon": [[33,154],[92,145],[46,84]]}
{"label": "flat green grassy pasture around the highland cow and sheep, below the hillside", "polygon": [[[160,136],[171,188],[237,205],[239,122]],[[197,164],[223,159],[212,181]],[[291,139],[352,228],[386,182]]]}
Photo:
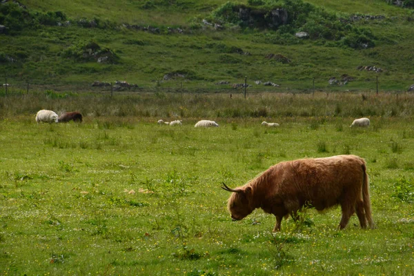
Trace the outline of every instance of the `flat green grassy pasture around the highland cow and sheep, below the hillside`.
{"label": "flat green grassy pasture around the highland cow and sheep, below the hillside", "polygon": [[[0,97],[0,274],[412,275],[412,97],[367,97]],[[76,106],[82,124],[34,122],[39,108]],[[253,116],[260,106],[266,116]],[[348,127],[358,112],[370,128]],[[220,127],[195,129],[206,116]],[[231,221],[222,182],[339,154],[367,161],[376,229],[354,216],[337,230],[339,208],[284,220],[277,234],[262,210]]]}

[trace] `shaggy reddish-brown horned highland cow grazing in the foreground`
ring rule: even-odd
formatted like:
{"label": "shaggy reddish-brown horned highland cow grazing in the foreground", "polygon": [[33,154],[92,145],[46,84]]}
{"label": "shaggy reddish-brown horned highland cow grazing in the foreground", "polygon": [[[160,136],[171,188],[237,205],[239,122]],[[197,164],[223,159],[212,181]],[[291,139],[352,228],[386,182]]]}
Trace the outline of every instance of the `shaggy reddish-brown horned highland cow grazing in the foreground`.
{"label": "shaggy reddish-brown horned highland cow grazing in the foreground", "polygon": [[355,155],[338,155],[326,158],[298,159],[271,166],[239,188],[221,187],[233,192],[228,199],[228,210],[233,220],[240,220],[262,208],[275,215],[280,230],[283,217],[297,212],[304,206],[324,210],[342,207],[339,228],[343,229],[356,210],[359,224],[374,227],[368,190],[368,175],[364,159]]}

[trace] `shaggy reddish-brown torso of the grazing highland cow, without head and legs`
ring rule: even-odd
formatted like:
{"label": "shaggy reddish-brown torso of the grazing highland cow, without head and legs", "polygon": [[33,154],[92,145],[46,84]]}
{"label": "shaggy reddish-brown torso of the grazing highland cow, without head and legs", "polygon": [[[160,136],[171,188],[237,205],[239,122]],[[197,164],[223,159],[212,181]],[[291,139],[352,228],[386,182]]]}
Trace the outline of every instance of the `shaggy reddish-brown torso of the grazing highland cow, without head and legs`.
{"label": "shaggy reddish-brown torso of the grazing highland cow, without head and legs", "polygon": [[298,159],[275,165],[273,190],[284,201],[299,201],[323,210],[339,204],[346,193],[355,193],[364,179],[364,159],[355,155]]}

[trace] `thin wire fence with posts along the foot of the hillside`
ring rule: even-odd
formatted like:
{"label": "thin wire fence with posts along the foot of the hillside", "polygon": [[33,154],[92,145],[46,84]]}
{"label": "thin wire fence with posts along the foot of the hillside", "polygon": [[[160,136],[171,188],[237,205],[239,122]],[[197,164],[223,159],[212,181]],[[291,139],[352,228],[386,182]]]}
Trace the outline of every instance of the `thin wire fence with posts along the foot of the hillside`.
{"label": "thin wire fence with posts along the foot of the hillside", "polygon": [[273,79],[273,81],[259,81],[248,79],[237,79],[234,81],[186,81],[170,80],[155,81],[149,85],[131,84],[126,81],[94,81],[93,83],[70,83],[55,84],[41,83],[28,79],[5,77],[0,81],[0,95],[30,94],[39,92],[92,92],[103,95],[117,95],[119,93],[139,92],[214,92],[228,93],[231,95],[242,94],[247,97],[249,94],[262,92],[275,93],[315,93],[315,92],[411,92],[414,91],[413,79],[389,79],[372,77],[369,79],[353,78],[331,78],[328,81],[322,78],[308,79]]}

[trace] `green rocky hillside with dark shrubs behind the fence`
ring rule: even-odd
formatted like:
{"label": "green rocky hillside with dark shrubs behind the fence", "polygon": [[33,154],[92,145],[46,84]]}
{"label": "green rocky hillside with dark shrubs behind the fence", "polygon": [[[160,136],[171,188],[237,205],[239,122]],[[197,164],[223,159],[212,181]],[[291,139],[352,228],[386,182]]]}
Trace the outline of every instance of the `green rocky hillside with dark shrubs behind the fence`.
{"label": "green rocky hillside with dark shrubs behind the fence", "polygon": [[15,84],[217,89],[247,76],[306,90],[313,78],[323,89],[335,77],[332,86],[361,90],[378,77],[382,90],[406,90],[414,82],[410,1],[3,2],[1,75]]}

